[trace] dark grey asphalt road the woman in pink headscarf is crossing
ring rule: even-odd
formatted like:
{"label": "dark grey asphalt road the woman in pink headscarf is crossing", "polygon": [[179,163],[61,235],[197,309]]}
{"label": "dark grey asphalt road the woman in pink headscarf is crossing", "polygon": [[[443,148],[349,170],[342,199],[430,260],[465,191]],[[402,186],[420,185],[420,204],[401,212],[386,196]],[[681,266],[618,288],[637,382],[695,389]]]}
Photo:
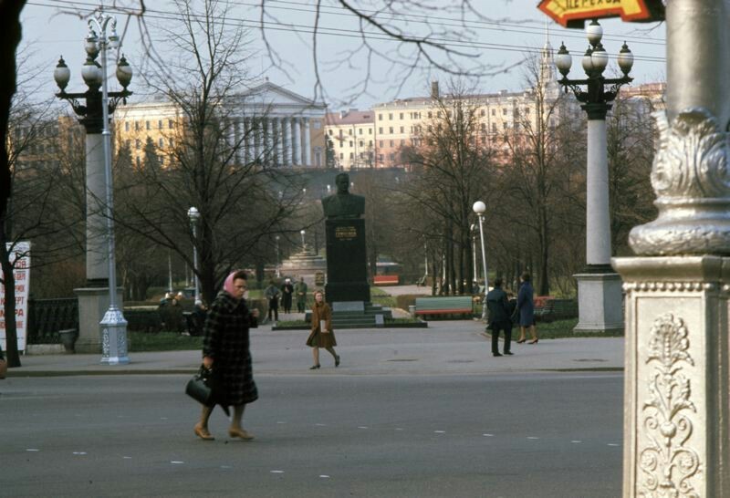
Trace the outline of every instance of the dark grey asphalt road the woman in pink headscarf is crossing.
{"label": "dark grey asphalt road the woman in pink headscarf is crossing", "polygon": [[0,496],[620,496],[622,374],[257,375],[255,441],[183,375],[0,384]]}

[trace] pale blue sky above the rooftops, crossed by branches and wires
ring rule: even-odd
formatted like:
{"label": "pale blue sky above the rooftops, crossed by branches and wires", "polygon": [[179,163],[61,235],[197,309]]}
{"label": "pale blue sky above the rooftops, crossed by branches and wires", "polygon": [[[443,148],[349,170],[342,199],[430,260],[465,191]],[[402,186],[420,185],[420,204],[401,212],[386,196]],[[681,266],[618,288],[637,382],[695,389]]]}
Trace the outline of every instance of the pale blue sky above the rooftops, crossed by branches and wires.
{"label": "pale blue sky above the rooftops, crossed by branches and wires", "polygon": [[[474,4],[483,5],[477,13],[457,10],[455,5],[461,5],[459,0],[422,0],[421,9],[411,8],[408,0],[391,0],[391,12],[381,11],[377,19],[391,30],[428,35],[451,51],[444,54],[434,48],[430,51],[433,60],[416,57],[412,44],[383,39],[386,37],[373,28],[366,29],[365,36],[361,36],[359,19],[334,0],[324,0],[318,19],[312,6],[314,2],[307,0],[266,0],[264,16],[258,7],[260,2],[240,0],[234,4],[225,26],[244,26],[248,30],[245,47],[249,72],[308,99],[324,100],[330,110],[368,109],[391,99],[427,95],[431,80],[448,85],[450,79],[459,78],[459,72],[467,73],[461,78],[480,93],[520,90],[526,86],[524,60],[545,45],[546,37],[554,49],[565,42],[570,50],[574,61],[570,77],[584,76],[580,70],[580,57],[588,47],[584,32],[559,26],[540,12],[537,1],[533,0],[477,2]],[[383,4],[383,0],[356,2],[365,13]],[[39,75],[39,78],[47,75],[47,84],[38,81],[39,94],[47,92],[50,96],[57,91],[52,73],[60,55],[71,69],[67,91],[85,88],[80,68],[86,57],[83,38],[87,22],[82,16],[98,5],[99,2],[90,0],[27,3],[21,17],[24,30],[21,47],[25,47],[21,48],[21,57],[27,59],[29,66],[47,67]],[[149,61],[141,40],[151,39],[162,57],[172,57],[158,26],[170,22],[175,7],[168,1],[147,0],[144,27],[149,35],[142,36],[138,20],[115,8],[139,7],[139,1],[107,0],[105,5],[107,12],[116,17],[120,35],[124,33],[122,51],[137,75],[130,89],[141,99],[148,90],[139,74],[144,70],[144,62]],[[262,18],[266,26],[263,33]],[[317,66],[312,35],[316,22],[319,28]],[[623,41],[634,53],[636,61],[631,76],[636,84],[665,79],[662,23],[623,23],[620,19],[603,19],[600,23],[604,29],[603,45],[611,57],[618,54]],[[263,43],[264,39],[268,46]],[[608,71],[615,66],[612,59]],[[316,71],[322,88],[316,86]]]}

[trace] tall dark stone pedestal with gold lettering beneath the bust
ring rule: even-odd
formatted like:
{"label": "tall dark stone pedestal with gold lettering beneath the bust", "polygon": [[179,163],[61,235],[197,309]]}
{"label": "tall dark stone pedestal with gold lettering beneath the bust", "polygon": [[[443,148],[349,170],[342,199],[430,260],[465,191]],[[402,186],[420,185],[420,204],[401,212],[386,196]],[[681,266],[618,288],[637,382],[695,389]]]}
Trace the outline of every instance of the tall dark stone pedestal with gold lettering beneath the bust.
{"label": "tall dark stone pedestal with gold lettering beneath the bust", "polygon": [[327,220],[327,285],[325,298],[334,301],[370,303],[365,220]]}

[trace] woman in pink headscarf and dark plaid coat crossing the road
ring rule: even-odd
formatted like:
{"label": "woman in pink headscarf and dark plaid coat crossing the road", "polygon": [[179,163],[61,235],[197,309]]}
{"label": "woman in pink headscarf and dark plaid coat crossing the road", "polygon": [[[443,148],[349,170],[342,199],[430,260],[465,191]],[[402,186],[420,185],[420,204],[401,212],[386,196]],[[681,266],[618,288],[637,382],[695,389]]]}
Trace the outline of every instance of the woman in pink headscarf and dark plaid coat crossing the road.
{"label": "woman in pink headscarf and dark plaid coat crossing the road", "polygon": [[228,275],[223,290],[215,297],[205,319],[203,367],[213,368],[214,401],[211,406],[203,406],[201,419],[194,429],[195,434],[206,441],[214,439],[208,431],[208,420],[216,404],[234,407],[229,436],[254,439],[241,427],[245,405],[258,399],[248,334],[250,327],[258,325],[258,310],[248,309],[246,288],[243,270]]}

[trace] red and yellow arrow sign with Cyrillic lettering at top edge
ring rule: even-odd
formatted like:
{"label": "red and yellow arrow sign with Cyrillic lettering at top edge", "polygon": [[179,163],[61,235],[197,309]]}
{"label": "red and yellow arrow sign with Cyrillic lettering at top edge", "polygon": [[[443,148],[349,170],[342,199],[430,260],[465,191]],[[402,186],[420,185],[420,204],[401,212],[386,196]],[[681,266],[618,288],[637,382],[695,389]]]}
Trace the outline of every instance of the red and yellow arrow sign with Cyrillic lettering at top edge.
{"label": "red and yellow arrow sign with Cyrillic lettering at top edge", "polygon": [[542,0],[537,8],[562,26],[573,21],[620,17],[624,21],[661,20],[662,2],[656,0]]}

